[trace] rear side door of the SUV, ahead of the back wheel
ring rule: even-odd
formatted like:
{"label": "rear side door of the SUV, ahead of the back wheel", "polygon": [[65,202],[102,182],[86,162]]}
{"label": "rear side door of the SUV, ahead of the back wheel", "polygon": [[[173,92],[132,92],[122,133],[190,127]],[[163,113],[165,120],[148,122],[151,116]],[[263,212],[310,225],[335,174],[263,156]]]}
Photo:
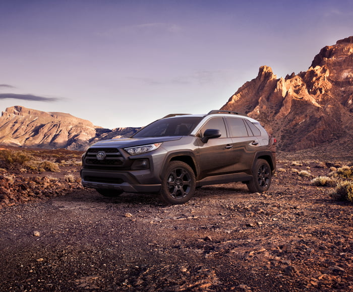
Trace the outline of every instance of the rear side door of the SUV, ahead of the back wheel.
{"label": "rear side door of the SUV, ahead of the back wheel", "polygon": [[253,136],[244,119],[225,118],[234,151],[234,172],[248,172],[259,141]]}

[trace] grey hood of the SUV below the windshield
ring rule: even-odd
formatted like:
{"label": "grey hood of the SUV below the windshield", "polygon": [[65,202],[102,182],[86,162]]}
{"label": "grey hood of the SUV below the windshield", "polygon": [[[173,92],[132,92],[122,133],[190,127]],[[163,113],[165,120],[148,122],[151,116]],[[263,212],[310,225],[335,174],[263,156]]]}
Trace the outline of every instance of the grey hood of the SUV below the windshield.
{"label": "grey hood of the SUV below the windshield", "polygon": [[120,139],[102,140],[97,143],[94,143],[91,146],[132,147],[132,146],[147,145],[147,144],[166,142],[166,141],[175,141],[175,140],[180,140],[181,138],[182,138],[182,136],[148,137],[148,138],[120,138]]}

